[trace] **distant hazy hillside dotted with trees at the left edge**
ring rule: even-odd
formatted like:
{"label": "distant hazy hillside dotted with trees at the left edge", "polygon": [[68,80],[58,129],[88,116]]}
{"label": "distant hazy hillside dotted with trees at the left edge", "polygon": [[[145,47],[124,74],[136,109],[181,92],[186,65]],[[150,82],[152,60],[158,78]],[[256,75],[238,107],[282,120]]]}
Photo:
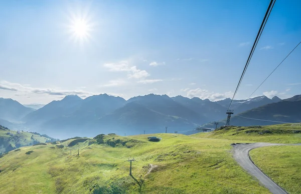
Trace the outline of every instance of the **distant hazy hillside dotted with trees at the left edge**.
{"label": "distant hazy hillside dotted with trees at the left edge", "polygon": [[0,154],[11,151],[13,149],[33,145],[40,142],[50,141],[51,138],[34,134],[30,132],[10,130],[0,126]]}

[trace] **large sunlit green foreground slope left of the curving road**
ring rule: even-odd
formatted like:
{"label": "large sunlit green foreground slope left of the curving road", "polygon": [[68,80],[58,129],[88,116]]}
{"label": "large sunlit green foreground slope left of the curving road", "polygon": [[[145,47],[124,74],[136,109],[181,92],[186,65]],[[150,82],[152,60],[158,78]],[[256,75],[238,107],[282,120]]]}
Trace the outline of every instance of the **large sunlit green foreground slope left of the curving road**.
{"label": "large sunlit green foreground slope left of the curving road", "polygon": [[[156,135],[161,142],[148,142],[146,135],[106,135],[106,140],[130,141],[116,147],[89,145],[90,140],[73,147],[64,142],[64,148],[48,143],[11,151],[0,158],[0,178],[6,180],[0,181],[0,193],[269,193],[232,158],[230,144],[236,140]],[[136,159],[132,174],[138,183],[128,175],[128,157]],[[158,167],[147,173],[149,164]]]}

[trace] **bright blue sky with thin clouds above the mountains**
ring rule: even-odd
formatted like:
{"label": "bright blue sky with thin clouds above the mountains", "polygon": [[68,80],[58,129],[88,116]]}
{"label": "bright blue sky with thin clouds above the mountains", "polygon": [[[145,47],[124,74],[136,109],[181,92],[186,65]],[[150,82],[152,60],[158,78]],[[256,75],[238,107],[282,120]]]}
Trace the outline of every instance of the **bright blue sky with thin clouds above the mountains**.
{"label": "bright blue sky with thin clouds above the mountains", "polygon": [[[5,1],[0,97],[232,97],[269,1]],[[301,39],[299,1],[277,0],[236,95],[247,98]],[[72,32],[82,20],[88,36]],[[301,47],[301,46],[300,46]],[[254,96],[300,94],[297,48]]]}

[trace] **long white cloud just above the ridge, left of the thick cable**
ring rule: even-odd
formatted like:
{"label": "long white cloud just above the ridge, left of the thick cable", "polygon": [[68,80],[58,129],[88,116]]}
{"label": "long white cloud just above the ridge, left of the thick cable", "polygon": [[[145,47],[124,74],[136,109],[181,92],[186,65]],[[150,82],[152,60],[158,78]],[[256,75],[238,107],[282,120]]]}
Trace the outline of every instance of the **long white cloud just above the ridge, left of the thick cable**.
{"label": "long white cloud just above the ridge, left of the thick cable", "polygon": [[211,101],[217,101],[217,100],[222,100],[225,98],[230,98],[233,96],[233,92],[225,92],[225,93],[214,93],[210,92],[205,89],[197,88],[197,89],[192,89],[187,91],[187,97],[193,98],[193,97],[199,97],[201,99],[209,99]]}

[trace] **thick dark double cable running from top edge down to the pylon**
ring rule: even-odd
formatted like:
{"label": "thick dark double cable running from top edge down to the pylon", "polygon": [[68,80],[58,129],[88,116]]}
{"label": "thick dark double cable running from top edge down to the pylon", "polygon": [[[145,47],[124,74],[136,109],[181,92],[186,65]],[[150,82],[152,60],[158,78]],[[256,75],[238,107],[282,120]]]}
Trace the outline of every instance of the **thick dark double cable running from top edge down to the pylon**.
{"label": "thick dark double cable running from top edge down to the pylon", "polygon": [[256,39],[255,39],[255,41],[254,41],[254,44],[253,44],[252,49],[251,49],[251,52],[250,52],[250,54],[249,54],[249,57],[248,57],[248,59],[247,59],[247,62],[246,62],[246,64],[245,64],[245,67],[244,67],[244,69],[243,69],[243,72],[242,72],[242,74],[241,74],[241,76],[240,76],[239,82],[238,82],[238,84],[237,84],[237,87],[236,87],[236,89],[235,89],[235,92],[234,92],[234,94],[233,94],[233,97],[232,97],[232,99],[231,99],[231,102],[230,102],[230,105],[229,105],[229,108],[228,108],[228,109],[230,109],[230,107],[231,107],[231,104],[232,104],[232,102],[233,102],[233,99],[234,99],[234,97],[235,97],[235,95],[236,95],[236,93],[237,93],[237,91],[238,91],[238,88],[239,88],[239,86],[240,86],[240,84],[241,84],[241,81],[242,81],[242,79],[243,79],[243,77],[244,77],[244,74],[245,74],[245,72],[246,72],[246,70],[247,70],[247,68],[248,68],[248,66],[249,66],[250,60],[251,60],[251,58],[252,58],[252,56],[253,56],[253,53],[254,53],[254,51],[255,51],[255,49],[256,49],[256,46],[257,46],[258,41],[259,41],[259,39],[260,39],[260,37],[261,37],[262,31],[263,31],[263,29],[264,29],[264,27],[265,27],[265,24],[266,24],[266,22],[267,22],[267,19],[268,19],[270,13],[271,13],[271,11],[272,11],[272,9],[273,9],[273,7],[274,7],[275,2],[276,2],[276,0],[271,0],[271,1],[270,1],[270,4],[269,4],[269,6],[268,6],[268,8],[267,8],[267,10],[266,10],[265,16],[264,16],[263,21],[262,21],[262,23],[261,23],[261,26],[260,26],[260,28],[259,28],[259,30],[258,30]]}

